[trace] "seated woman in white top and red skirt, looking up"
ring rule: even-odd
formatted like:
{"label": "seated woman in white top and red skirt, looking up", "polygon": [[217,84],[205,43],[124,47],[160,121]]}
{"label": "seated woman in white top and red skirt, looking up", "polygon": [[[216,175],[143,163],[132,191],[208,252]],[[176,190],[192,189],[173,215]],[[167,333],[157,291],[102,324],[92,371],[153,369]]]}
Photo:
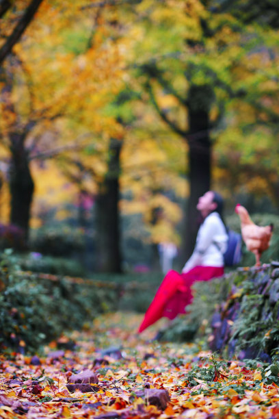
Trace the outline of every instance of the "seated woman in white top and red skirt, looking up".
{"label": "seated woman in white top and red skirt, looking up", "polygon": [[161,283],[148,308],[139,333],[161,317],[174,319],[185,314],[185,307],[193,300],[191,285],[196,281],[224,275],[224,257],[228,235],[222,219],[223,199],[209,190],[198,200],[197,210],[202,216],[196,246],[182,273],[170,270]]}

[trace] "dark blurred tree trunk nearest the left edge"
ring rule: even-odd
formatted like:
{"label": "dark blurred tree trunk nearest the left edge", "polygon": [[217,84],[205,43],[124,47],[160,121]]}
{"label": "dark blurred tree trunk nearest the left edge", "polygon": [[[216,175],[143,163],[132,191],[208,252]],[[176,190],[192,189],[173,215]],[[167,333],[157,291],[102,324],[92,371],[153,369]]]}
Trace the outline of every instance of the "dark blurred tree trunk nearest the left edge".
{"label": "dark blurred tree trunk nearest the left edge", "polygon": [[12,160],[10,166],[11,212],[10,223],[23,229],[25,245],[29,236],[31,202],[34,194],[34,181],[31,177],[27,153],[23,139],[12,134]]}

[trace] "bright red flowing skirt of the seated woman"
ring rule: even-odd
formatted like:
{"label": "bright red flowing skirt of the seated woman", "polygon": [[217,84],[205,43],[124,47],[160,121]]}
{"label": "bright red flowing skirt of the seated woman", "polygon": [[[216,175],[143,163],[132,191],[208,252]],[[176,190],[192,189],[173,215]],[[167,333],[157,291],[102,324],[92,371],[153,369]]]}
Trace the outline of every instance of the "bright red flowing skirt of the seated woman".
{"label": "bright red flowing skirt of the seated woman", "polygon": [[181,274],[176,270],[170,270],[148,307],[138,332],[141,333],[161,317],[172,320],[178,314],[185,314],[185,307],[193,301],[191,285],[196,281],[209,281],[222,275],[224,268],[215,266],[195,266],[189,272]]}

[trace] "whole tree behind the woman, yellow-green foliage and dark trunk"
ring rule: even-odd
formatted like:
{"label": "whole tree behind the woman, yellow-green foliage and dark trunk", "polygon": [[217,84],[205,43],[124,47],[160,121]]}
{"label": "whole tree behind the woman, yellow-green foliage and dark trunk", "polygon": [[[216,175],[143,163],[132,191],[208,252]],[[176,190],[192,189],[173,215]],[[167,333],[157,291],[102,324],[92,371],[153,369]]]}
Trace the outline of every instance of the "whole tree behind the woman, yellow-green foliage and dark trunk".
{"label": "whole tree behind the woman, yellow-green foliage and dark trunk", "polygon": [[[137,34],[131,58],[135,76],[161,120],[187,143],[186,255],[196,236],[198,197],[212,184],[213,144],[220,128],[231,123],[228,107],[253,98],[256,78],[241,71],[261,28],[241,21],[232,8],[218,9],[211,1],[146,0],[131,11],[138,24],[131,27]],[[261,66],[254,71],[260,75]]]}

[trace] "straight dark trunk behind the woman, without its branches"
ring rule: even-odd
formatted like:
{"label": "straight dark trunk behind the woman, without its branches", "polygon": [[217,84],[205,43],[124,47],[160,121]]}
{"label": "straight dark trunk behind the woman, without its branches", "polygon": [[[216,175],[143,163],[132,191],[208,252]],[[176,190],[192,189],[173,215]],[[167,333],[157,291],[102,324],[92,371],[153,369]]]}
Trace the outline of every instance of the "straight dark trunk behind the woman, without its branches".
{"label": "straight dark trunk behind the woman, without its branches", "polygon": [[209,112],[213,101],[210,86],[191,86],[189,89],[189,188],[185,232],[185,261],[191,255],[198,232],[196,205],[211,185],[211,141]]}

